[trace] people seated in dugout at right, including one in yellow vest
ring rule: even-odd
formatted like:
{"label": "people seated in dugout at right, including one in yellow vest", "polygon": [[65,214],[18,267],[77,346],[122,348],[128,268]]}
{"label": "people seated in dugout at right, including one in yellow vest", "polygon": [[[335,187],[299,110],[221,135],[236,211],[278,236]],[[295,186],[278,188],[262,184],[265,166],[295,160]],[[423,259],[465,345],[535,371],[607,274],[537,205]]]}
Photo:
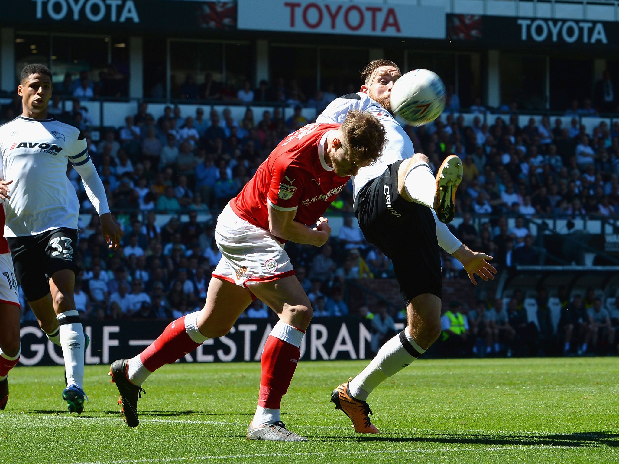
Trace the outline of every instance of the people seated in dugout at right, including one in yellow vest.
{"label": "people seated in dugout at right, including one in yellow vest", "polygon": [[[556,332],[553,306],[560,312]],[[534,314],[537,324],[528,312]],[[527,299],[521,290],[516,290],[508,298],[479,300],[476,307],[452,301],[441,324],[439,350],[451,356],[619,354],[616,300],[604,301],[593,288],[588,288],[584,297],[573,292],[571,298],[565,286],[553,296],[545,288],[538,288],[534,297]]]}

